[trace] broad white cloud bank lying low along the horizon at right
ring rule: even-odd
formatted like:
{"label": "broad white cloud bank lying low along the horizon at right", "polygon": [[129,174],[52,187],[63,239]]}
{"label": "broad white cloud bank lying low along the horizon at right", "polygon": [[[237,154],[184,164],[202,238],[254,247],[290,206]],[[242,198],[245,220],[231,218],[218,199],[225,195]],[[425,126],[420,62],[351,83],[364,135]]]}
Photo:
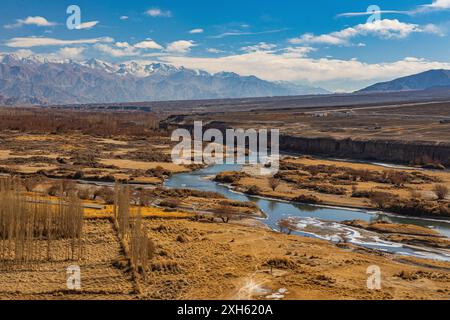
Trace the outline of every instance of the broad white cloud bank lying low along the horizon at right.
{"label": "broad white cloud bank lying low along the horizon at right", "polygon": [[359,89],[363,82],[386,81],[430,69],[450,69],[450,63],[418,58],[370,64],[357,59],[313,59],[289,51],[277,54],[257,51],[223,57],[166,56],[160,59],[187,68],[212,73],[230,71],[241,75],[255,75],[270,81],[308,82],[316,85],[335,82],[336,86],[347,86],[346,90]]}

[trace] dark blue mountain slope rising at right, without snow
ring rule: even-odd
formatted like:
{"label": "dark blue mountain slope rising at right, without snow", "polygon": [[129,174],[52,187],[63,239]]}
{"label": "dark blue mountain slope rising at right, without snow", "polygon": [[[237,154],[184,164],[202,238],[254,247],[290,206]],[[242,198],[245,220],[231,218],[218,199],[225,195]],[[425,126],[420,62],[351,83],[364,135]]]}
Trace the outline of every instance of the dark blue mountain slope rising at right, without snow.
{"label": "dark blue mountain slope rising at right, without snow", "polygon": [[359,92],[426,90],[450,87],[450,70],[430,70],[392,81],[376,83]]}

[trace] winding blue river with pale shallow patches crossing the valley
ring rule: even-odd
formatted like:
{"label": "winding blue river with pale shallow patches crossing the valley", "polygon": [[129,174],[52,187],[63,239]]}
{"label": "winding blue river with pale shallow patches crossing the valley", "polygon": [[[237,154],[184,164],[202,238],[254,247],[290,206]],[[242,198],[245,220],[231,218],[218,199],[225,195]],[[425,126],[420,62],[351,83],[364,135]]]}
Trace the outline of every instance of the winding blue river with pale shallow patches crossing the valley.
{"label": "winding blue river with pale shallow patches crossing the valley", "polygon": [[255,202],[267,215],[267,218],[262,219],[262,221],[272,229],[277,229],[276,223],[282,218],[295,218],[296,221],[298,221],[300,229],[307,228],[308,230],[319,230],[319,232],[296,232],[299,235],[316,237],[329,241],[339,241],[340,238],[345,238],[347,242],[367,248],[401,255],[450,261],[450,254],[448,252],[442,250],[422,250],[408,245],[383,241],[376,233],[361,232],[361,230],[347,227],[340,223],[345,220],[357,219],[370,222],[382,219],[392,223],[405,223],[430,227],[440,232],[442,235],[450,237],[450,221],[400,217],[375,211],[298,204],[276,199],[259,198],[234,192],[230,190],[228,186],[221,185],[211,180],[212,176],[215,176],[220,172],[240,171],[241,168],[242,165],[238,164],[217,164],[193,172],[175,174],[165,182],[165,186],[168,188],[186,188],[217,192],[231,200]]}

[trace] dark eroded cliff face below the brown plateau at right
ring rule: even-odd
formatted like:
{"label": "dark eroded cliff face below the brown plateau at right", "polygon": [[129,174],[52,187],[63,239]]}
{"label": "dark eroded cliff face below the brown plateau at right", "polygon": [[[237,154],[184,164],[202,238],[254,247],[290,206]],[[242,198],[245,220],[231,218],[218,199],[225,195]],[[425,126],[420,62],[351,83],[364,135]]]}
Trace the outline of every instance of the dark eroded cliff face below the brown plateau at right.
{"label": "dark eroded cliff face below the brown plateau at right", "polygon": [[450,166],[450,144],[280,136],[280,150],[336,158]]}

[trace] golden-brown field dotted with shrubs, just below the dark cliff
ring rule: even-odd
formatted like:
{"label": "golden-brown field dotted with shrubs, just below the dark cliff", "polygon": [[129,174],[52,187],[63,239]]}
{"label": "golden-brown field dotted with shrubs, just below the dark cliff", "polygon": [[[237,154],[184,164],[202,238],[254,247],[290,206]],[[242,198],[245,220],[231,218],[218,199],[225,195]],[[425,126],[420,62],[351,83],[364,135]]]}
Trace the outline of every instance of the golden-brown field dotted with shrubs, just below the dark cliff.
{"label": "golden-brown field dotted with shrubs, just below the dark cliff", "polygon": [[[353,171],[356,173],[352,173]],[[307,195],[315,197],[322,204],[337,205],[343,207],[376,208],[369,197],[354,197],[358,192],[386,192],[400,199],[410,199],[412,196],[426,200],[436,200],[433,188],[437,184],[450,186],[450,172],[448,171],[425,171],[421,169],[396,169],[379,165],[352,163],[348,161],[323,160],[311,157],[292,158],[286,157],[281,161],[279,172],[279,184],[273,190],[269,184],[270,176],[252,175],[251,170],[244,172],[239,179],[233,180],[233,187],[239,191],[246,191],[251,186],[257,186],[258,194],[292,200],[298,196]],[[409,181],[376,181],[373,179],[356,178],[351,179],[345,174],[365,174],[367,172],[378,173],[380,176],[396,174],[412,174],[413,179]],[[229,173],[233,176],[233,173]],[[372,180],[372,181],[371,181]],[[375,180],[375,181],[373,181]],[[315,187],[323,187],[317,188]],[[337,194],[333,194],[337,193]],[[447,196],[447,202],[450,194]]]}

